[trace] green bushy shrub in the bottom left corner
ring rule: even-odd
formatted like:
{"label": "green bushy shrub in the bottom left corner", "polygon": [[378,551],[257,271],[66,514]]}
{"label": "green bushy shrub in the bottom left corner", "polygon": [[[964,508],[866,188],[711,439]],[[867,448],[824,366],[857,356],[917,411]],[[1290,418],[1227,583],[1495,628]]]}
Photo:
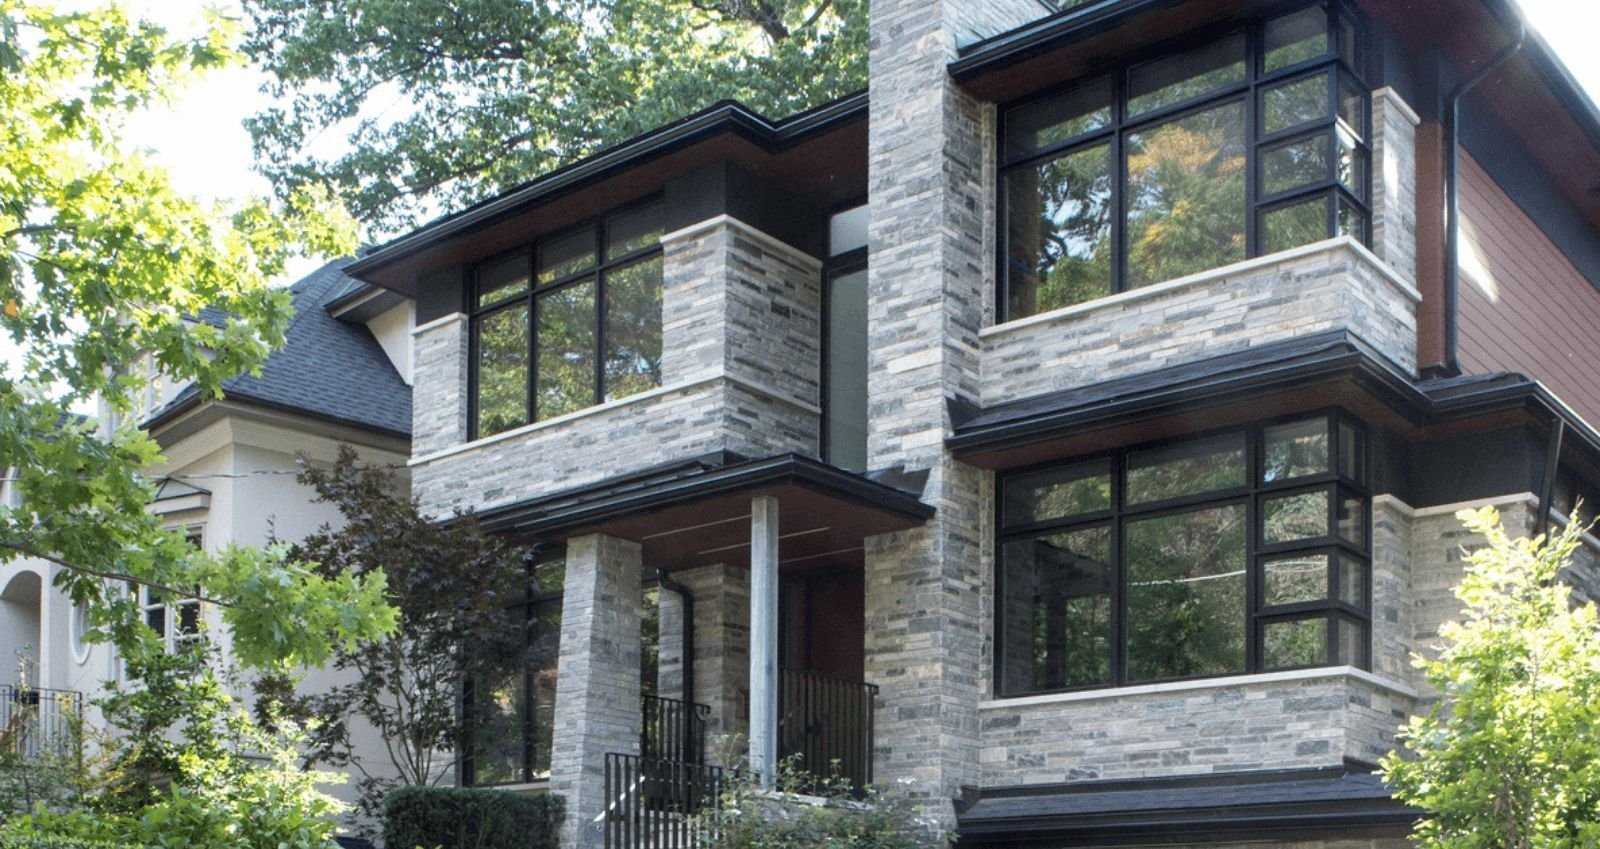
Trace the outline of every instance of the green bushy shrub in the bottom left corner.
{"label": "green bushy shrub in the bottom left corner", "polygon": [[128,660],[138,684],[101,702],[110,735],[99,790],[66,811],[6,822],[11,838],[114,841],[173,849],[331,849],[346,806],[318,785],[341,775],[299,764],[304,732],[251,721],[237,681],[202,643]]}

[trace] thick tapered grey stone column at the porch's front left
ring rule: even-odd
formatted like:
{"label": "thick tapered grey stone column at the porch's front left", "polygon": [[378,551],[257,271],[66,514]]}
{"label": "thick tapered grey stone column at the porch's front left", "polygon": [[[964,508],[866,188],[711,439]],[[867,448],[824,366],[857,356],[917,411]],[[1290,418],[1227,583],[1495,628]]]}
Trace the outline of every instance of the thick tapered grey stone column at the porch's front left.
{"label": "thick tapered grey stone column at the porch's front left", "polygon": [[638,755],[640,547],[590,534],[566,542],[550,790],[566,798],[562,846],[600,846],[605,756]]}

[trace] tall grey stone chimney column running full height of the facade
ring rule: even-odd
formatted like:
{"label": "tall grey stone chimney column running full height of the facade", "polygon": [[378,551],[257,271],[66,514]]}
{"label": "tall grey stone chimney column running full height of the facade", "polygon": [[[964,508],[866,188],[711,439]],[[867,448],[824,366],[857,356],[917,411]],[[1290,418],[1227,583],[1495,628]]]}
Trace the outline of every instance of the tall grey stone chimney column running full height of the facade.
{"label": "tall grey stone chimney column running full height of the facade", "polygon": [[880,689],[875,775],[942,806],[978,777],[986,475],[944,449],[946,397],[978,401],[994,253],[994,109],[946,70],[957,40],[1046,10],[1021,0],[874,0],[867,130],[869,465],[928,470],[938,513],[866,547],[866,678]]}

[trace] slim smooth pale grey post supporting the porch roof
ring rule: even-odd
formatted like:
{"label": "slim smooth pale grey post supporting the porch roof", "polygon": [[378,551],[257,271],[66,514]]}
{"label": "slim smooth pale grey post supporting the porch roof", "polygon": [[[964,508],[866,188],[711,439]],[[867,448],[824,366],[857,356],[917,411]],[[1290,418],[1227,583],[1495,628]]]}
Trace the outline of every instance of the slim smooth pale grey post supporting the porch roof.
{"label": "slim smooth pale grey post supporting the porch roof", "polygon": [[750,499],[750,769],[778,771],[778,499]]}

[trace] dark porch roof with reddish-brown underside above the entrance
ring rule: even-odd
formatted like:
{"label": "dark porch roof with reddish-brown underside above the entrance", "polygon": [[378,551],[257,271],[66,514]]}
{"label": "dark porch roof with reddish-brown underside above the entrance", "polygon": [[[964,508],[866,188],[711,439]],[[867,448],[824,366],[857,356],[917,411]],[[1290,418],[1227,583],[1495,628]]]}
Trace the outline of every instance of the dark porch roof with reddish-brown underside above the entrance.
{"label": "dark porch roof with reddish-brown underside above the entrance", "polygon": [[928,521],[934,508],[902,486],[920,489],[922,480],[858,475],[800,454],[714,454],[485,510],[478,521],[526,540],[630,539],[651,568],[667,572],[744,563],[750,499],[774,496],[779,561],[810,568],[859,558],[866,537]]}

